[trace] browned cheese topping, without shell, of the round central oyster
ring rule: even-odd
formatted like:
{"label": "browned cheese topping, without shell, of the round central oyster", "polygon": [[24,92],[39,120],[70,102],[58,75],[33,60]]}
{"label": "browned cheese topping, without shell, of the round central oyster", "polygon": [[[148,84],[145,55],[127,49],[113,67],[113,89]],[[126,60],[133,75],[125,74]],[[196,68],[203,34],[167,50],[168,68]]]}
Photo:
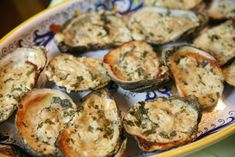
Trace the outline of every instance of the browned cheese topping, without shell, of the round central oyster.
{"label": "browned cheese topping, without shell, of the round central oyster", "polygon": [[144,42],[130,42],[109,52],[105,60],[116,77],[123,81],[152,80],[160,73],[160,60]]}

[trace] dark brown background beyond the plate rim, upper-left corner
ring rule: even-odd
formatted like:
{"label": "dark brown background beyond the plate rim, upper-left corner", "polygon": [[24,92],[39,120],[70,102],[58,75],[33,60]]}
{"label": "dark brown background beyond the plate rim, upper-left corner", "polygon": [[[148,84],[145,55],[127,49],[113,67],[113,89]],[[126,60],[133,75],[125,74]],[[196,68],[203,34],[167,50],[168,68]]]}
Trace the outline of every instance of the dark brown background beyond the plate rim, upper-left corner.
{"label": "dark brown background beyond the plate rim, upper-left corner", "polygon": [[0,38],[17,25],[48,7],[50,0],[1,0]]}

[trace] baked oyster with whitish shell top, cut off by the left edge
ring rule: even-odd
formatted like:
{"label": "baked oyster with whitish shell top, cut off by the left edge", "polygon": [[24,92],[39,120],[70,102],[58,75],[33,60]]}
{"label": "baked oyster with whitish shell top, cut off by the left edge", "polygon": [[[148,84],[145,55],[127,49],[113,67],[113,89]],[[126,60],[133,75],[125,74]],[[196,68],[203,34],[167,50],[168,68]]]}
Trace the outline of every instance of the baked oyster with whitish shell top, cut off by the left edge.
{"label": "baked oyster with whitish shell top, cut off by the left edge", "polygon": [[37,82],[46,64],[42,48],[17,48],[0,60],[0,122],[17,109],[19,100]]}

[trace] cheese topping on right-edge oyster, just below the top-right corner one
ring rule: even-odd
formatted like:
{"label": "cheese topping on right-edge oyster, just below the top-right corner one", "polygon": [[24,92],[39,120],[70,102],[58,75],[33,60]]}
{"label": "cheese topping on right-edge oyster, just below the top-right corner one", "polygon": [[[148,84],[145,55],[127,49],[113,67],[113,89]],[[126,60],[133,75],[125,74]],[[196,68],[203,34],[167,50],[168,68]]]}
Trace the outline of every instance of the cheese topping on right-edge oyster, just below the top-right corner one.
{"label": "cheese topping on right-edge oyster, just below the top-right corner one", "polygon": [[213,55],[220,65],[235,57],[235,22],[212,27],[195,39],[194,45]]}

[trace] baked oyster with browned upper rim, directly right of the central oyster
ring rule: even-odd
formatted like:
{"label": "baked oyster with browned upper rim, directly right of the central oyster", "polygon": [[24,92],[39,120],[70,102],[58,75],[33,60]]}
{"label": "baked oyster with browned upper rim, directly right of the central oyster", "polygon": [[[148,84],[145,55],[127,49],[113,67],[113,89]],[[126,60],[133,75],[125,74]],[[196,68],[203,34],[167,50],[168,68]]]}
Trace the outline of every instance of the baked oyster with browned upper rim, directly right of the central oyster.
{"label": "baked oyster with browned upper rim, directly right of the central oyster", "polygon": [[179,96],[193,95],[198,98],[202,110],[213,109],[224,89],[222,70],[216,60],[191,46],[169,48],[167,52],[172,53],[167,64]]}

